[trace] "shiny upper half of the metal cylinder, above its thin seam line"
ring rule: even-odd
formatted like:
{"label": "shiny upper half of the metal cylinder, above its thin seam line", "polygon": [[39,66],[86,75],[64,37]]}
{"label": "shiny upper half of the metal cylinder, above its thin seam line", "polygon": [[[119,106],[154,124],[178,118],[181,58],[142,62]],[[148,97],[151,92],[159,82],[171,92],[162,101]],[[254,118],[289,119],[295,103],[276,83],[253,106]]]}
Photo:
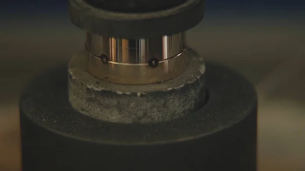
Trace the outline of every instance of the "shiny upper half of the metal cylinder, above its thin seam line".
{"label": "shiny upper half of the metal cylinder, above its thin seam line", "polygon": [[106,55],[118,63],[147,63],[181,53],[185,48],[185,32],[148,39],[120,39],[101,37],[87,32],[86,49],[95,56]]}

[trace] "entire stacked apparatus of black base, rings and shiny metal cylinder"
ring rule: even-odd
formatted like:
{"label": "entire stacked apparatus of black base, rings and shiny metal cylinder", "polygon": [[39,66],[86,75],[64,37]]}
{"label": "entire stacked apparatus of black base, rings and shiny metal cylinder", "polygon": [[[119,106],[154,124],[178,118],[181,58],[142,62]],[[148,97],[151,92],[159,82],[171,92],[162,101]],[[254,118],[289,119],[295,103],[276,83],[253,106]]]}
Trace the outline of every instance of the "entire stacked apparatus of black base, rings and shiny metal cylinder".
{"label": "entire stacked apparatus of black base, rings and shiny metal cylinder", "polygon": [[187,44],[204,0],[69,0],[69,15],[84,49],[24,89],[23,171],[256,170],[255,89]]}

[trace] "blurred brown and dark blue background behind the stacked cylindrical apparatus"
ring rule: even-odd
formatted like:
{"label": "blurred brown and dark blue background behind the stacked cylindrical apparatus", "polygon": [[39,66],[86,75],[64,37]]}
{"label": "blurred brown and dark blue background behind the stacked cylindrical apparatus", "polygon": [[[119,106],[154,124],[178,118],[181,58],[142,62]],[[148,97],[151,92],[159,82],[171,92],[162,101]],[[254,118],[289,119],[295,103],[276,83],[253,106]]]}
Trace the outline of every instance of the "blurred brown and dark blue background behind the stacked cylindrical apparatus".
{"label": "blurred brown and dark blue background behind the stacked cylindrical apparatus", "polygon": [[[44,70],[83,48],[67,1],[0,5],[0,170],[20,170],[19,93]],[[233,67],[259,96],[258,170],[305,170],[305,2],[206,0],[188,43]]]}

